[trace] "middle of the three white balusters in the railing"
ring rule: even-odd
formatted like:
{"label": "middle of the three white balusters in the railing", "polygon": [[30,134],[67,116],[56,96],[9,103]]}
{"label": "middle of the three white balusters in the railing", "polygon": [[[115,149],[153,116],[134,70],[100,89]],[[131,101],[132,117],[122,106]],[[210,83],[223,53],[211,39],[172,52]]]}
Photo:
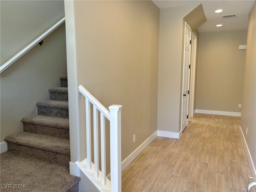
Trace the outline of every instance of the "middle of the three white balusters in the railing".
{"label": "middle of the three white balusters in the railing", "polygon": [[93,106],[94,175],[99,177],[98,109]]}

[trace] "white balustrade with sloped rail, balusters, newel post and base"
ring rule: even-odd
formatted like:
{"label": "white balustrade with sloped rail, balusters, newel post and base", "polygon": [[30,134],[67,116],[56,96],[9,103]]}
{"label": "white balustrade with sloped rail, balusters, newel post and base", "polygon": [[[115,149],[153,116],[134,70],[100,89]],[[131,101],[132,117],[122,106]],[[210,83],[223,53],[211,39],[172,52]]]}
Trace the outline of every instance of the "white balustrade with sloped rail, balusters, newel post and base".
{"label": "white balustrade with sloped rail, balusters, newel post and base", "polygon": [[[122,105],[112,105],[108,111],[86,88],[79,86],[80,93],[85,97],[86,111],[86,154],[82,162],[75,162],[78,168],[94,184],[99,191],[121,191],[121,110]],[[91,155],[91,112],[93,105],[94,163]],[[98,111],[100,112],[100,144],[101,171],[99,170]],[[106,177],[106,143],[105,118],[110,120],[110,174],[111,182]]]}

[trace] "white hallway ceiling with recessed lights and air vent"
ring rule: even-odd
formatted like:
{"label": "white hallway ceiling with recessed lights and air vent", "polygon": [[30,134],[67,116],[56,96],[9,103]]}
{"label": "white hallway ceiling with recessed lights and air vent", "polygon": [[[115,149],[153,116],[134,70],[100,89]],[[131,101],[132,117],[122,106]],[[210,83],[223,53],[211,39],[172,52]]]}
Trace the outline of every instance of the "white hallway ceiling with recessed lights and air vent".
{"label": "white hallway ceiling with recessed lights and air vent", "polygon": [[[248,27],[248,14],[255,0],[152,0],[160,9],[202,3],[207,21],[197,28],[198,32],[217,32],[242,30]],[[214,13],[222,9],[221,13]],[[222,15],[236,14],[234,18],[222,18]],[[222,24],[222,27],[216,27]]]}

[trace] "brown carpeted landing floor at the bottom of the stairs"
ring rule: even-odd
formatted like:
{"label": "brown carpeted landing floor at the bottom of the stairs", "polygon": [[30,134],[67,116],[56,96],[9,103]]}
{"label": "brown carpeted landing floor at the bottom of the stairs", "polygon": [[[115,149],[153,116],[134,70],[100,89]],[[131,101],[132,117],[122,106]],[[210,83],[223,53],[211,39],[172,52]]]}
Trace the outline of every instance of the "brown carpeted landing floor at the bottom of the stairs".
{"label": "brown carpeted landing floor at the bottom of the stairs", "polygon": [[[0,154],[0,163],[1,184],[12,184],[1,192],[78,192],[80,178],[70,175],[67,166],[8,151]],[[13,189],[14,184],[24,184],[25,189]]]}

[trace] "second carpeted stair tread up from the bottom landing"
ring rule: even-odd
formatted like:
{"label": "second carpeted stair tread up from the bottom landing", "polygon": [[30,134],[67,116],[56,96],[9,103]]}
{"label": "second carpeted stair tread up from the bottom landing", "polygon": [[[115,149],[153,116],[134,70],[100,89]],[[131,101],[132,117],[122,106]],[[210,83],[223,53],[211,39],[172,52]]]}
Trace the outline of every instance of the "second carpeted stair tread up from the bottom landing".
{"label": "second carpeted stair tread up from the bottom landing", "polygon": [[21,119],[23,123],[69,129],[69,119],[45,115],[31,115]]}

